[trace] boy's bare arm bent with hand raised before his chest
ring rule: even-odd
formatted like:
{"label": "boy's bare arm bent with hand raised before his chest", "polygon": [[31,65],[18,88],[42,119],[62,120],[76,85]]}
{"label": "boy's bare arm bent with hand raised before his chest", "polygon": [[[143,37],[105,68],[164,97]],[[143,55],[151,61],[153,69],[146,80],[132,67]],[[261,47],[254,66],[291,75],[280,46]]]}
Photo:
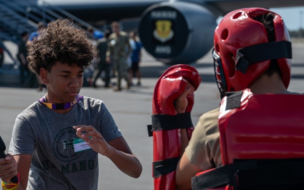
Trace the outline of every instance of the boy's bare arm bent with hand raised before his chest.
{"label": "boy's bare arm bent with hand raised before his chest", "polygon": [[[140,176],[142,166],[124,137],[118,137],[107,143],[92,126],[79,125],[73,128],[77,129],[77,136],[84,139],[94,151],[108,157],[122,172],[134,178]],[[87,133],[83,134],[82,131]]]}

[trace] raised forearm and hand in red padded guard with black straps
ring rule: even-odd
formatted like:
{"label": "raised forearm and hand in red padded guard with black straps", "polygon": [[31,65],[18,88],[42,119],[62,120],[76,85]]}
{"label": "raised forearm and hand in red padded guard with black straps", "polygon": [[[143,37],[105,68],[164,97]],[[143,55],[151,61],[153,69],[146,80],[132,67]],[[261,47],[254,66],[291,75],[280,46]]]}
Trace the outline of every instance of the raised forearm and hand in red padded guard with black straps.
{"label": "raised forearm and hand in red padded guard with black straps", "polygon": [[201,80],[194,67],[179,64],[168,68],[157,81],[151,129],[154,189],[175,189],[175,168],[193,131],[190,113]]}

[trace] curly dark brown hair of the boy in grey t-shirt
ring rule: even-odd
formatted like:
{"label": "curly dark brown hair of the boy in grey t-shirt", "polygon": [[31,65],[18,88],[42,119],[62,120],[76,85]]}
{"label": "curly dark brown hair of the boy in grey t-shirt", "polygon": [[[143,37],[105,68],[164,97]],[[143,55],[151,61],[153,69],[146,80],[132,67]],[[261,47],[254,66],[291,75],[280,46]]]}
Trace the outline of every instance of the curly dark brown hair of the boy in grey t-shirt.
{"label": "curly dark brown hair of the boy in grey t-shirt", "polygon": [[87,67],[98,58],[98,50],[82,28],[73,26],[70,19],[51,21],[28,48],[28,68],[40,75],[49,72],[56,62]]}

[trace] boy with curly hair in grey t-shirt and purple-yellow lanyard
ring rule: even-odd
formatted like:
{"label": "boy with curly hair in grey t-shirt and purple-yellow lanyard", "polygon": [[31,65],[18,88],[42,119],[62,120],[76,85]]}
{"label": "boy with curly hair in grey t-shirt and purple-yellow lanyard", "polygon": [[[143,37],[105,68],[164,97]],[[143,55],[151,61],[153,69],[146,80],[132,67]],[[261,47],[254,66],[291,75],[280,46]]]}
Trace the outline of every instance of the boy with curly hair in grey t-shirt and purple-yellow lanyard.
{"label": "boy with curly hair in grey t-shirt and purple-yellow lanyard", "polygon": [[[97,189],[98,154],[140,176],[142,166],[104,102],[79,95],[84,69],[97,53],[67,19],[50,22],[32,42],[29,69],[47,94],[16,118],[9,154],[0,159],[3,189]],[[19,181],[12,183],[15,175]]]}

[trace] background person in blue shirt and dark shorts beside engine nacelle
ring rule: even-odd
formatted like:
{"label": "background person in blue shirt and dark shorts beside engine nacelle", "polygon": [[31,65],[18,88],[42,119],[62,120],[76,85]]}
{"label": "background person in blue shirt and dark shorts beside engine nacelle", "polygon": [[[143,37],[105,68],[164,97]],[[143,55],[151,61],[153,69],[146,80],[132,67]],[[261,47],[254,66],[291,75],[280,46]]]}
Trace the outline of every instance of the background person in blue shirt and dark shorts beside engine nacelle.
{"label": "background person in blue shirt and dark shorts beside engine nacelle", "polygon": [[139,42],[137,39],[136,31],[130,32],[130,45],[132,47],[132,56],[131,56],[132,65],[130,68],[130,81],[132,84],[132,78],[133,78],[133,75],[135,74],[137,77],[137,85],[141,85],[141,82],[140,82],[141,74],[140,74],[140,69],[139,69],[139,63],[140,63],[140,59],[141,59],[142,45],[141,45],[141,42]]}

